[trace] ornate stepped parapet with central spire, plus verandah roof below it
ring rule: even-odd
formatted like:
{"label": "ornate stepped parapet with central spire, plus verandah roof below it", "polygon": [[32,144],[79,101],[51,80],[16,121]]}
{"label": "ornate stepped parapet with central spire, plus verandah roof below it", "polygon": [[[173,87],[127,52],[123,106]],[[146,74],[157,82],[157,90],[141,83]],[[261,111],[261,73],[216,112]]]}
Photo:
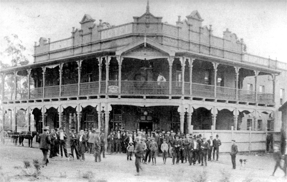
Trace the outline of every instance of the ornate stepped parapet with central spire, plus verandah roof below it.
{"label": "ornate stepped parapet with central spire, plus verandah roof below it", "polygon": [[81,29],[73,27],[70,38],[53,42],[40,38],[38,45],[35,42],[34,63],[115,52],[147,37],[176,54],[190,53],[271,70],[287,69],[286,63],[246,53],[243,39],[238,40],[236,34],[228,29],[222,38],[214,36],[211,25],[202,27],[203,19],[197,11],[186,18],[181,21],[179,17],[175,26],[161,22],[162,17],[155,17],[147,10],[142,16],[133,17],[131,23],[104,28],[102,20],[95,24],[95,20],[85,14],[80,22]]}

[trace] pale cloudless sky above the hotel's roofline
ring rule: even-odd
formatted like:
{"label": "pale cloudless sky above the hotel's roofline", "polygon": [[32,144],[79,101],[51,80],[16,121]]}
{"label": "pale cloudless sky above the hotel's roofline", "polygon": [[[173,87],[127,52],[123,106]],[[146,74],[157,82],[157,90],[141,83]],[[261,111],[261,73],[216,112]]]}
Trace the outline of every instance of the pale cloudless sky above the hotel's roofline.
{"label": "pale cloudless sky above the hotel's roofline", "polygon": [[[33,62],[34,42],[39,38],[56,41],[71,36],[72,27],[80,28],[84,14],[99,23],[120,25],[133,21],[146,11],[147,1],[0,1],[0,45],[4,36],[17,34]],[[198,10],[212,24],[213,35],[222,37],[226,28],[243,38],[247,52],[287,63],[287,1],[156,1],[150,0],[150,13],[162,16],[162,22],[175,25],[178,16],[185,19]],[[7,57],[1,61],[9,63]]]}

